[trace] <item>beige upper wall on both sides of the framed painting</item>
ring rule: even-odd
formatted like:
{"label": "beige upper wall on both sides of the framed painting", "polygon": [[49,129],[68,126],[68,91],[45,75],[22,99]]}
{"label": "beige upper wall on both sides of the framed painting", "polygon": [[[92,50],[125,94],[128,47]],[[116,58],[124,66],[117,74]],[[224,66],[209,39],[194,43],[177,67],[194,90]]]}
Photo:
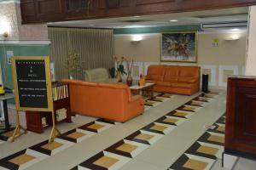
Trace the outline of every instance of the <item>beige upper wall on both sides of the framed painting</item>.
{"label": "beige upper wall on both sides of the framed painting", "polygon": [[[237,36],[239,39],[235,41],[225,40],[233,36]],[[160,62],[160,34],[144,34],[142,37],[141,42],[133,44],[131,43],[132,35],[115,35],[114,54],[135,59],[137,62],[144,62],[145,70],[147,69],[146,63],[157,64]],[[218,47],[212,46],[214,39],[218,39]],[[219,65],[236,65],[240,69],[238,74],[241,74],[241,69],[245,66],[246,44],[247,32],[200,33],[198,37],[198,63],[195,65],[215,65],[216,80],[214,80],[214,84],[218,84]],[[185,63],[170,62],[165,64],[184,65]],[[219,87],[216,86],[215,88]]]}

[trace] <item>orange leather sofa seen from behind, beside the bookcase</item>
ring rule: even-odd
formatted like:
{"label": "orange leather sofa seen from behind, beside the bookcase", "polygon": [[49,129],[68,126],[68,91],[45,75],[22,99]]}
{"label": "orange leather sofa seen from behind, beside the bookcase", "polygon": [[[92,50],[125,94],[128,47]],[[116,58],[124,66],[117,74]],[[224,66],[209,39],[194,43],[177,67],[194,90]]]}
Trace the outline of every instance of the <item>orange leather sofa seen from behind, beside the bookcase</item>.
{"label": "orange leather sofa seen from behind, beside the bookcase", "polygon": [[131,96],[131,90],[125,84],[69,79],[62,82],[69,84],[71,111],[74,113],[125,122],[144,112],[142,96]]}

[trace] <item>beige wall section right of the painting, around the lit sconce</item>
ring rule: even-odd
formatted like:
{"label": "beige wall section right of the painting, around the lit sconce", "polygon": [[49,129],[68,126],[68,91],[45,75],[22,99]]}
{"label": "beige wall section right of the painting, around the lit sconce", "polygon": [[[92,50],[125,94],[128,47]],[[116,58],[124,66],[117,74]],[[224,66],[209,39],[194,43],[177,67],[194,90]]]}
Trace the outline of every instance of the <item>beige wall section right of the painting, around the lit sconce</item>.
{"label": "beige wall section right of the painting, around the lit sconce", "polygon": [[[227,41],[232,36],[240,39]],[[218,47],[212,47],[218,39]],[[198,62],[205,65],[245,65],[247,33],[200,34],[198,38]]]}

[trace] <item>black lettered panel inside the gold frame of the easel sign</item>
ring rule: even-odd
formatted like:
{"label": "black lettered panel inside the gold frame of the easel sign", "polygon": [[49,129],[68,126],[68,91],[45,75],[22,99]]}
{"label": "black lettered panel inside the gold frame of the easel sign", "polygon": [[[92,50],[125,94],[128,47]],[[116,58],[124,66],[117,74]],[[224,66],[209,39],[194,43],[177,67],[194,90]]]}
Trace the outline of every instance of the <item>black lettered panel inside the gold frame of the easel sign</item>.
{"label": "black lettered panel inside the gold frame of the easel sign", "polygon": [[20,107],[48,108],[44,60],[15,60]]}

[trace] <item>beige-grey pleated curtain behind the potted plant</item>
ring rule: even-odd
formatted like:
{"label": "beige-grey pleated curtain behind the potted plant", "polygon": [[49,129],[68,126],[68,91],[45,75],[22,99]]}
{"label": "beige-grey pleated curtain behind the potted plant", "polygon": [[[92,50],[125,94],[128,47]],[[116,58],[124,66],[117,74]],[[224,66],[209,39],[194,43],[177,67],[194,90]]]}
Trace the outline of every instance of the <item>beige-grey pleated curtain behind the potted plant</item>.
{"label": "beige-grey pleated curtain behind the potted plant", "polygon": [[55,65],[55,79],[67,78],[67,55],[79,54],[81,71],[73,73],[75,79],[84,80],[84,71],[94,68],[109,69],[113,61],[113,30],[49,27],[51,41],[49,54]]}

